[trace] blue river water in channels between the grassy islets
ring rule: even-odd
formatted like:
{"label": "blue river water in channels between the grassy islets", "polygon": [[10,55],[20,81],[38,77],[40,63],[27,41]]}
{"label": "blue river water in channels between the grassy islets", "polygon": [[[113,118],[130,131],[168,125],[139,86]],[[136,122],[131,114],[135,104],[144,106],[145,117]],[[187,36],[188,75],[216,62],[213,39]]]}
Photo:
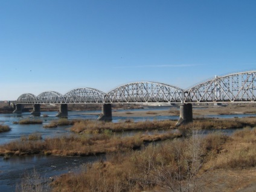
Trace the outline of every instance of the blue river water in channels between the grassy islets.
{"label": "blue river water in channels between the grassy islets", "polygon": [[[150,111],[157,110],[169,110],[170,107],[150,107]],[[149,109],[129,109],[129,112],[133,110],[149,110]],[[120,110],[124,111],[124,110]],[[127,110],[128,111],[128,110]],[[98,115],[89,115],[89,113],[96,112],[100,114],[100,110],[96,111],[69,111],[68,119],[91,119],[96,120]],[[45,129],[43,126],[50,123],[53,120],[57,120],[55,117],[57,112],[42,112],[40,117],[31,117],[29,112],[24,112],[22,115],[16,114],[0,114],[0,124],[7,124],[11,127],[9,132],[0,133],[0,144],[5,144],[15,139],[21,138],[21,136],[30,135],[31,133],[40,133],[42,138],[51,136],[60,136],[63,134],[69,134],[69,128],[71,126],[59,126],[56,128]],[[48,117],[43,117],[48,115]],[[238,114],[238,115],[204,115],[204,117],[211,118],[242,118],[254,116],[256,114]],[[19,121],[22,118],[39,118],[43,120],[43,124],[13,124],[14,121]],[[178,116],[156,116],[156,117],[129,117],[133,121],[146,121],[146,120],[178,120]],[[113,122],[126,120],[126,117],[113,117]],[[219,130],[227,135],[234,132],[235,129]],[[203,130],[203,134],[208,134],[213,130]],[[133,135],[135,132],[122,133],[123,136]],[[147,132],[150,134],[150,132]],[[106,159],[106,156],[87,156],[87,157],[63,157],[63,156],[45,156],[45,155],[33,155],[33,156],[12,156],[10,159],[0,158],[0,191],[15,191],[16,185],[19,185],[24,173],[30,173],[36,170],[42,178],[45,180],[50,177],[59,176],[69,171],[79,171],[80,165],[89,162],[95,162],[100,159]]]}

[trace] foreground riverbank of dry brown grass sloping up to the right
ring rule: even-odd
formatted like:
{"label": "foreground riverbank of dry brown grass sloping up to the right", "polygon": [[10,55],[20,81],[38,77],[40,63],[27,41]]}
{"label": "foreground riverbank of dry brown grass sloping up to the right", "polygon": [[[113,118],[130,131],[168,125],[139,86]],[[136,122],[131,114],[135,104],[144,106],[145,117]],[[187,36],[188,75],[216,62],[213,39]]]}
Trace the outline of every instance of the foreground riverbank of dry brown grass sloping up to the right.
{"label": "foreground riverbank of dry brown grass sloping up to the right", "polygon": [[255,187],[255,142],[256,129],[166,141],[83,165],[58,177],[53,191],[246,191]]}

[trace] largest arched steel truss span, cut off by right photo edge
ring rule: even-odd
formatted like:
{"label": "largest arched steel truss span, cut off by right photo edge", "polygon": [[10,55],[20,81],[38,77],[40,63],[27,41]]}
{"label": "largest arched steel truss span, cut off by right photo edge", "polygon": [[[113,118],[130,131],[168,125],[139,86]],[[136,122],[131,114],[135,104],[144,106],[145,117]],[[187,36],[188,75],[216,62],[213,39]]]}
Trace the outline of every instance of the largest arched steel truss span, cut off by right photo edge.
{"label": "largest arched steel truss span, cut off by right photo edge", "polygon": [[255,96],[256,71],[246,71],[199,83],[185,91],[184,102],[255,102]]}

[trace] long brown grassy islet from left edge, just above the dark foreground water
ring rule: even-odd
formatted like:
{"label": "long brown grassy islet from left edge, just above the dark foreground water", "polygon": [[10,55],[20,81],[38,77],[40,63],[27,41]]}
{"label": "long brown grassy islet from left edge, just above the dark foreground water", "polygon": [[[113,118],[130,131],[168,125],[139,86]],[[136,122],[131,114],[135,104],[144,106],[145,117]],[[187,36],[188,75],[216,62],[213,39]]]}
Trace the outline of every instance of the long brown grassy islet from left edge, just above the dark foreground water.
{"label": "long brown grassy islet from left edge, just above the dark foreground water", "polygon": [[137,149],[142,146],[144,141],[155,141],[164,139],[173,139],[181,135],[152,135],[120,137],[112,135],[109,130],[104,134],[94,136],[70,135],[60,138],[46,138],[41,140],[38,134],[32,134],[27,137],[22,136],[21,140],[13,141],[0,146],[0,155],[63,155],[63,156],[86,156],[98,153],[126,152]]}

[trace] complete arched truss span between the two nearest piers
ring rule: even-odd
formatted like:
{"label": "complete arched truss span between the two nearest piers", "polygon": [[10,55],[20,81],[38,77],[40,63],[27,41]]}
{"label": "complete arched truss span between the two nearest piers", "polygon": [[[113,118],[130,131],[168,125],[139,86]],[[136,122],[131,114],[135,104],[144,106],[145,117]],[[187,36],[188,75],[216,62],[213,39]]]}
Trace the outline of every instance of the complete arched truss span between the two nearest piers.
{"label": "complete arched truss span between the two nearest piers", "polygon": [[135,82],[106,94],[105,103],[181,103],[183,90],[156,82]]}

